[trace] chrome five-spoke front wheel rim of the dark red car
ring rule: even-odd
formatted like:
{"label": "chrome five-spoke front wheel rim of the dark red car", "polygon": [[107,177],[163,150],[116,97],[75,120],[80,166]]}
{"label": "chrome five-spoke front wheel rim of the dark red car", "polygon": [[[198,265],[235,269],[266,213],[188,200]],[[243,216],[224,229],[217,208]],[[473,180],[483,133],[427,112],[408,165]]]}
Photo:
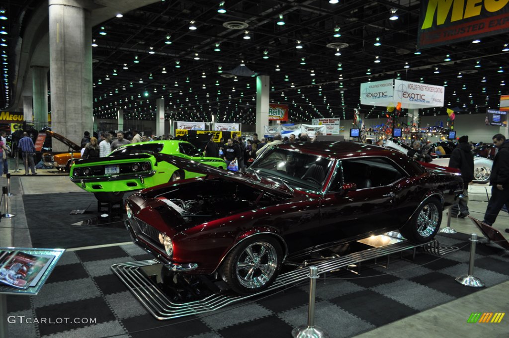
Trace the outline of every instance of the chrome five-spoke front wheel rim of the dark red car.
{"label": "chrome five-spoke front wheel rim of the dark red car", "polygon": [[277,270],[277,250],[271,243],[251,243],[238,257],[235,264],[237,280],[247,289],[263,287]]}

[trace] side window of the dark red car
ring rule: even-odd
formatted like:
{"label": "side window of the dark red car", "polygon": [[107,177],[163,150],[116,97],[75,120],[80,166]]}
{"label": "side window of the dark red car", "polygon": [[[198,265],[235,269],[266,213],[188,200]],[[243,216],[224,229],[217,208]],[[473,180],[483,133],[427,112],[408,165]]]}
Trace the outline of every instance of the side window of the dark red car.
{"label": "side window of the dark red car", "polygon": [[406,176],[397,164],[383,157],[346,159],[341,167],[343,183],[355,183],[357,189],[390,185]]}

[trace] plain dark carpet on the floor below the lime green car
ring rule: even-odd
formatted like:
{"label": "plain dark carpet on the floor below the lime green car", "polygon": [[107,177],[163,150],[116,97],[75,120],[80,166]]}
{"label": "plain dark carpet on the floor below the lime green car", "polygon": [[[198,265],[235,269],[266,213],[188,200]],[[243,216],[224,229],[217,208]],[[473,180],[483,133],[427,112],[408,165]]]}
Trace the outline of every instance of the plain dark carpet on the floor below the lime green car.
{"label": "plain dark carpet on the floor below the lime green car", "polygon": [[[112,223],[101,226],[73,225],[100,217],[97,200],[92,193],[23,195],[23,205],[33,247],[72,248],[131,241],[119,219],[110,220]],[[87,209],[88,212],[70,215],[75,209]]]}

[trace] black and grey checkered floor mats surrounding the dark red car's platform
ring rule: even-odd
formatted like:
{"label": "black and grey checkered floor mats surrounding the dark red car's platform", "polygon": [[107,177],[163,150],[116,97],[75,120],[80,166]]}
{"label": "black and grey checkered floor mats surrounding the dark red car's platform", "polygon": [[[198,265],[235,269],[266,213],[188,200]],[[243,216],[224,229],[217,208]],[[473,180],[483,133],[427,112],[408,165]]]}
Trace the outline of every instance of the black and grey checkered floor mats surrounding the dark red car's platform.
{"label": "black and grey checkered floor mats surrounding the dark red car's platform", "polygon": [[[439,260],[418,252],[412,262],[394,255],[389,269],[363,264],[360,275],[327,274],[330,279],[317,282],[316,325],[331,337],[349,337],[478,291],[455,281],[468,271],[468,237],[437,236],[444,244],[464,246]],[[475,275],[487,287],[508,280],[509,252],[477,247]],[[112,264],[150,258],[134,244],[64,253],[38,296],[8,297],[9,316],[53,322],[92,318],[96,323],[9,324],[9,337],[290,338],[294,327],[306,323],[307,284],[200,318],[157,321],[110,269]],[[464,310],[466,322],[474,309]]]}

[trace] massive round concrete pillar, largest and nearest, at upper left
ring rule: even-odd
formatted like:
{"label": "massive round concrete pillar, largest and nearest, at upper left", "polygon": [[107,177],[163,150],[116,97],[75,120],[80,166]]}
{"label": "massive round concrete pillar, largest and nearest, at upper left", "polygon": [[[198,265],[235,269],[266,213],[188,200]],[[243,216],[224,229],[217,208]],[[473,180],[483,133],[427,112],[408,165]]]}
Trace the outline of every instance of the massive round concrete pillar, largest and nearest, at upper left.
{"label": "massive round concrete pillar, largest and nearest, at upper left", "polygon": [[[92,0],[49,0],[51,127],[74,142],[92,129]],[[63,143],[53,149],[66,151]]]}

